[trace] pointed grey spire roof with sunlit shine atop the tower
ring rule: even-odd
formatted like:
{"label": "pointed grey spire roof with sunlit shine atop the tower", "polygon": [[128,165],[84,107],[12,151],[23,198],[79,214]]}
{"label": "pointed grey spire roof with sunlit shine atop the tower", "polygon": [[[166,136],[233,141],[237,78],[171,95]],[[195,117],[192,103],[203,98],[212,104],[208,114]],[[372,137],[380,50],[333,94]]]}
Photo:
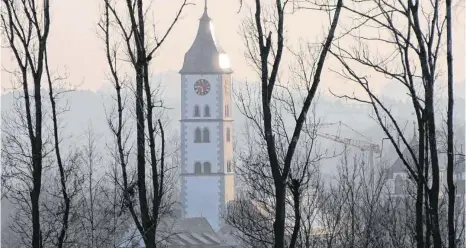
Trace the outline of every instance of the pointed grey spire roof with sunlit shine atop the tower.
{"label": "pointed grey spire roof with sunlit shine atop the tower", "polygon": [[[223,60],[223,61],[221,61]],[[232,73],[224,60],[228,56],[216,42],[214,26],[207,11],[207,0],[204,3],[204,13],[199,20],[199,28],[191,48],[184,56],[181,74],[221,74]],[[223,63],[222,63],[223,62]]]}

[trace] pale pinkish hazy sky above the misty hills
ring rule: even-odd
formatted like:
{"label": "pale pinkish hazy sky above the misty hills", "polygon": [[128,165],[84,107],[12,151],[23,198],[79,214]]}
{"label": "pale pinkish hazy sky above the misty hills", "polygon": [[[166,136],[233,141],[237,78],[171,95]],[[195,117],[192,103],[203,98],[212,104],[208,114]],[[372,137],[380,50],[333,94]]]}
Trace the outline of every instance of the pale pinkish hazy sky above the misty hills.
{"label": "pale pinkish hazy sky above the misty hills", "polygon": [[[98,0],[51,0],[52,28],[49,38],[51,63],[55,68],[64,71],[67,68],[68,78],[74,83],[82,83],[83,89],[98,89],[105,82],[107,65],[104,57],[103,42],[97,34],[97,23],[101,17],[102,1]],[[149,1],[146,1],[149,2]],[[198,19],[202,14],[204,0],[191,0],[196,5],[186,7],[181,20],[164,43],[152,64],[152,72],[167,70],[178,71],[183,62],[184,53],[190,47],[197,32]],[[245,2],[251,2],[245,1]],[[148,28],[155,23],[156,30],[165,30],[180,6],[181,0],[153,0],[154,15],[150,16]],[[461,4],[464,6],[464,4]],[[252,5],[250,5],[252,6]],[[240,24],[251,9],[246,7],[238,14],[239,0],[209,0],[209,15],[215,25],[216,38],[222,48],[230,55],[231,64],[237,79],[255,76],[244,58],[244,42],[240,34]],[[465,13],[464,7],[455,10],[454,20],[454,53],[455,75],[457,80],[465,78]],[[287,34],[295,41],[300,36],[310,37],[311,41],[319,41],[327,29],[322,20],[325,15],[301,10],[296,15],[286,16]],[[344,20],[342,20],[344,21]],[[2,49],[2,64],[10,69],[12,56]],[[335,62],[328,61],[327,68]],[[342,79],[328,69],[324,73],[324,88],[342,86]],[[5,87],[9,75],[2,73],[2,85]],[[170,82],[170,83],[179,83]],[[333,87],[332,87],[333,88]]]}

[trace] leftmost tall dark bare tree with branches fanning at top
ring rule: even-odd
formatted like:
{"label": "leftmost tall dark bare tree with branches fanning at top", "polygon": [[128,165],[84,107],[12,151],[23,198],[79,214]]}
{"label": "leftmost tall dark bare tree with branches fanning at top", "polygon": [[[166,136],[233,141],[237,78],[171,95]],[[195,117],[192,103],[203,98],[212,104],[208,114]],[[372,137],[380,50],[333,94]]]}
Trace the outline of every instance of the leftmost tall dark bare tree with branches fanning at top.
{"label": "leftmost tall dark bare tree with branches fanning at top", "polygon": [[[24,93],[24,103],[26,112],[26,123],[28,136],[31,145],[32,155],[32,190],[31,219],[32,219],[32,247],[41,248],[41,226],[39,201],[42,187],[42,96],[41,82],[44,70],[44,56],[47,47],[47,38],[50,29],[49,1],[44,0],[43,7],[36,6],[35,1],[23,1],[20,6],[16,6],[18,1],[3,0],[5,12],[2,13],[2,26],[8,39],[16,62],[21,71],[21,82]],[[42,9],[42,23],[38,9]],[[24,11],[24,13],[21,13]],[[18,17],[25,18],[25,23]],[[43,27],[41,27],[43,25]],[[35,33],[35,34],[33,34]],[[37,41],[34,41],[37,39]],[[37,43],[37,51],[33,51],[32,43]],[[28,72],[31,75],[28,75]],[[29,78],[32,78],[34,91],[34,112],[32,112],[29,95]],[[34,123],[33,116],[34,113]]]}

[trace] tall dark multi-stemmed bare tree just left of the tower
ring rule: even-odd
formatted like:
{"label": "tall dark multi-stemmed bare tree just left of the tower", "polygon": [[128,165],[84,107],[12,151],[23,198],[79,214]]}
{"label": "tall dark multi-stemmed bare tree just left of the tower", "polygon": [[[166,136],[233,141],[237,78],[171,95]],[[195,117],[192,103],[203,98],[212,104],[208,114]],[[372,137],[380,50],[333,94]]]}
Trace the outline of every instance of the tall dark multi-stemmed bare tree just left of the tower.
{"label": "tall dark multi-stemmed bare tree just left of the tower", "polygon": [[[105,21],[103,24],[100,24],[100,28],[105,33],[105,42],[107,46],[107,60],[110,65],[110,70],[112,73],[112,80],[115,83],[115,89],[117,91],[117,101],[118,101],[118,127],[112,127],[114,130],[114,134],[117,137],[118,142],[118,150],[119,150],[119,157],[120,163],[122,167],[122,176],[124,181],[124,191],[125,191],[125,201],[127,206],[130,209],[131,215],[136,223],[138,231],[144,240],[146,247],[148,248],[155,248],[156,247],[156,233],[157,233],[157,226],[158,220],[161,218],[161,205],[162,205],[162,196],[166,194],[167,189],[164,184],[164,173],[166,171],[163,167],[163,156],[161,155],[160,163],[157,159],[156,149],[155,149],[155,128],[153,122],[153,93],[151,92],[150,82],[149,82],[149,62],[152,59],[153,53],[156,52],[158,48],[162,45],[165,38],[170,33],[172,27],[177,22],[180,14],[183,11],[183,8],[187,5],[186,0],[183,2],[179,11],[171,23],[170,27],[167,29],[164,36],[159,40],[158,37],[155,37],[155,46],[152,49],[148,48],[146,41],[146,27],[145,27],[145,15],[147,10],[144,9],[143,0],[126,0],[126,15],[123,18],[123,15],[120,16],[117,13],[116,9],[112,4],[110,4],[110,0],[104,0],[106,6],[105,12]],[[137,155],[137,191],[138,191],[138,200],[139,200],[139,214],[138,217],[136,211],[134,210],[134,205],[131,199],[131,192],[134,192],[132,186],[129,185],[128,176],[127,176],[127,164],[125,158],[125,148],[123,145],[122,140],[122,112],[123,106],[121,102],[121,82],[118,74],[117,74],[117,66],[116,66],[116,56],[117,51],[113,51],[110,53],[110,36],[109,36],[109,22],[110,18],[109,15],[112,15],[113,19],[115,19],[117,23],[117,27],[120,29],[121,33],[123,34],[123,43],[126,47],[126,54],[129,56],[129,60],[131,62],[131,67],[134,69],[135,72],[135,83],[136,83],[136,91],[135,91],[135,99],[136,99],[136,155]],[[127,30],[126,25],[123,24],[123,19],[129,19],[130,28]],[[144,98],[145,97],[145,98]],[[146,109],[147,113],[144,113],[144,109]],[[145,130],[145,122],[147,121],[147,133]],[[160,125],[162,128],[162,125]],[[163,133],[163,130],[160,130]],[[152,189],[150,186],[146,185],[146,179],[148,177],[146,172],[146,134],[148,134],[149,139],[149,152],[150,152],[150,165],[152,169]],[[162,147],[165,146],[165,137],[162,137]],[[163,151],[164,152],[164,151]],[[159,169],[159,166],[161,168]],[[149,192],[148,191],[152,191]],[[152,196],[154,199],[152,200],[152,206],[149,203],[148,197]]]}

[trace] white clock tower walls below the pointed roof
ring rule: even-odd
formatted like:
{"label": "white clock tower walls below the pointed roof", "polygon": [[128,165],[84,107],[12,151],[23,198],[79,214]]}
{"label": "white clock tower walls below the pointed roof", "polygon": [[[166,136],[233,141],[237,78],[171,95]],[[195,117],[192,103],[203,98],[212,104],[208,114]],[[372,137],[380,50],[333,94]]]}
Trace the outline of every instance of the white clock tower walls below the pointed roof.
{"label": "white clock tower walls below the pointed roof", "polygon": [[[194,84],[200,78],[210,83],[210,92],[199,96]],[[182,75],[181,76],[181,203],[184,217],[206,217],[215,230],[221,221],[221,211],[226,202],[234,199],[233,123],[232,101],[225,94],[225,80],[231,84],[231,75]],[[231,89],[232,85],[230,85]],[[225,115],[225,105],[229,115]],[[200,117],[194,116],[194,106],[201,110]],[[204,117],[204,106],[210,107],[210,117]],[[195,130],[209,129],[209,143],[194,143]],[[227,142],[227,128],[230,141]],[[227,173],[227,161],[233,171]],[[196,162],[211,164],[211,174],[194,174]]]}

